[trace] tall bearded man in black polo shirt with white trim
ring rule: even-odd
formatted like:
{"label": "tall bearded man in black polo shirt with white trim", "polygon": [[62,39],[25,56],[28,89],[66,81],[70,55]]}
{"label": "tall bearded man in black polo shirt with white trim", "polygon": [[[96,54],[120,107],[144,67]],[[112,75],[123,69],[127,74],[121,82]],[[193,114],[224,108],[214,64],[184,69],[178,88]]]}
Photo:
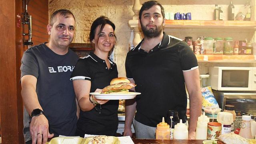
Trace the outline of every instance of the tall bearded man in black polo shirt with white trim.
{"label": "tall bearded man in black polo shirt with white trim", "polygon": [[126,57],[126,76],[137,84],[136,99],[126,100],[124,135],[132,135],[135,115],[136,138],[155,138],[156,125],[177,110],[186,122],[187,96],[190,98],[189,139],[195,139],[196,122],[201,114],[199,70],[196,56],[186,42],[163,32],[164,9],[156,1],[142,5],[139,14],[144,39]]}

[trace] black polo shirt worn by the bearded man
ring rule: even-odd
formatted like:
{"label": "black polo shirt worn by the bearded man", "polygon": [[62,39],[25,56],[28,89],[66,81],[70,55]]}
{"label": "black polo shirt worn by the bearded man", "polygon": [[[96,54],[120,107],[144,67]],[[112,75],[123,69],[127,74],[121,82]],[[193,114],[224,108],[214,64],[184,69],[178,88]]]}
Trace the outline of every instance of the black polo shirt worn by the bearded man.
{"label": "black polo shirt worn by the bearded man", "polygon": [[[142,40],[143,42],[143,40]],[[187,97],[183,72],[198,68],[196,56],[186,42],[164,33],[160,44],[148,53],[142,44],[126,56],[126,76],[137,86],[135,120],[156,127],[168,110],[178,110],[186,120]]]}

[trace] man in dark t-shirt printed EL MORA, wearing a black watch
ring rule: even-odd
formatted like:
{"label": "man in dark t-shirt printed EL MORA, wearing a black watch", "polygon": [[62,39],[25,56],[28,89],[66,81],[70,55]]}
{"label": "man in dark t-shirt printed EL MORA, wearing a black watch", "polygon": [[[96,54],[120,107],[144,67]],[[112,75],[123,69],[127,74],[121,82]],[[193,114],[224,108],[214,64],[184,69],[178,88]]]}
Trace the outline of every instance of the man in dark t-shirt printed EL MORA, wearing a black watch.
{"label": "man in dark t-shirt printed EL MORA, wearing a black watch", "polygon": [[24,52],[20,81],[26,144],[45,144],[48,138],[75,135],[76,97],[69,79],[78,56],[68,48],[74,28],[72,12],[57,10],[47,26],[50,42]]}

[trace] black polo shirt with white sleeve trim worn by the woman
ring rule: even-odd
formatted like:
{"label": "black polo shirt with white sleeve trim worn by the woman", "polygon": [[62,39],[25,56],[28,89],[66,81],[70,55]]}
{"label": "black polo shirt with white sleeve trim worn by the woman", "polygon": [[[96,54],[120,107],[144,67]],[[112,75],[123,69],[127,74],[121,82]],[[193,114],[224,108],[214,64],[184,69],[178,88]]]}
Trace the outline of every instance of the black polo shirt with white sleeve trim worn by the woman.
{"label": "black polo shirt with white sleeve trim worn by the woman", "polygon": [[[110,84],[113,78],[118,77],[117,67],[110,59],[111,67],[108,69],[105,60],[94,53],[78,60],[72,73],[71,80],[90,80],[90,92],[97,88],[103,89]],[[118,126],[118,100],[109,100],[100,106],[96,105],[88,112],[80,110],[77,129],[84,134],[99,134],[104,131],[116,130]]]}

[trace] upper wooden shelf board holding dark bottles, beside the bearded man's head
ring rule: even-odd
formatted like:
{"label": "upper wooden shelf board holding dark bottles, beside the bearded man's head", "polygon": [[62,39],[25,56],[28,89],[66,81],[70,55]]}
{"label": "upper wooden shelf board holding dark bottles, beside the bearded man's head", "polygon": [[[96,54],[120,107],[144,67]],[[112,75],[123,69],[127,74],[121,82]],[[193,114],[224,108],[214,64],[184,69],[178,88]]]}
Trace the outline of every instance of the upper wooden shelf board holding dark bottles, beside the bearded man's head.
{"label": "upper wooden shelf board holding dark bottles, beside the bearded man's head", "polygon": [[238,28],[256,29],[255,21],[166,20],[165,28]]}

